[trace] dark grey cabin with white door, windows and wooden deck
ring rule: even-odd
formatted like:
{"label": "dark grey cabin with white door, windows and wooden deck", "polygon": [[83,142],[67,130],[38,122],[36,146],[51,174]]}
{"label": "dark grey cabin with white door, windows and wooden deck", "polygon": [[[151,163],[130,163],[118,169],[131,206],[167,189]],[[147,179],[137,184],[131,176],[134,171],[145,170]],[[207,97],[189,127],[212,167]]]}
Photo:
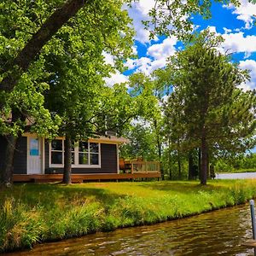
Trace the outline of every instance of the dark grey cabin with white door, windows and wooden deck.
{"label": "dark grey cabin with white door, windows and wooden deck", "polygon": [[[15,182],[61,180],[64,167],[64,139],[64,137],[56,137],[49,141],[32,133],[25,133],[20,137],[15,150],[13,180]],[[6,141],[0,138],[0,168],[4,161],[3,147],[1,147],[3,143]],[[89,138],[87,142],[74,143],[72,181],[81,183],[86,180],[160,177],[158,166],[152,167],[152,164],[148,168],[149,172],[145,172],[145,168],[140,170],[131,168],[130,173],[120,173],[119,145],[122,143],[128,143],[128,140],[113,135]],[[135,165],[137,164],[133,163],[132,166]],[[149,166],[149,164],[146,165]]]}

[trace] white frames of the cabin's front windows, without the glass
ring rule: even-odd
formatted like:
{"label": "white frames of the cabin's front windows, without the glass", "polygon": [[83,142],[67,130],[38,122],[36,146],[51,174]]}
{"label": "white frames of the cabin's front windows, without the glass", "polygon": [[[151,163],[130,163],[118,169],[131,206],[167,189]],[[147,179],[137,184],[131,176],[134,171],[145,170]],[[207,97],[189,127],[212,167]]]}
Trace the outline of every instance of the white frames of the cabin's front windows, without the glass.
{"label": "white frames of the cabin's front windows, without the glass", "polygon": [[[64,167],[64,139],[62,138],[55,138],[55,140],[61,140],[62,141],[62,164],[52,164],[51,163],[51,142],[49,142],[49,167]],[[93,143],[93,142],[91,142]],[[75,143],[74,145],[74,165],[72,165],[72,168],[101,168],[102,166],[102,159],[101,159],[101,143],[98,144],[99,152],[98,153],[91,153],[91,154],[98,154],[99,158],[99,164],[98,165],[90,165],[90,142],[87,142],[88,147],[88,165],[79,165],[79,143]],[[58,150],[59,151],[59,150]]]}

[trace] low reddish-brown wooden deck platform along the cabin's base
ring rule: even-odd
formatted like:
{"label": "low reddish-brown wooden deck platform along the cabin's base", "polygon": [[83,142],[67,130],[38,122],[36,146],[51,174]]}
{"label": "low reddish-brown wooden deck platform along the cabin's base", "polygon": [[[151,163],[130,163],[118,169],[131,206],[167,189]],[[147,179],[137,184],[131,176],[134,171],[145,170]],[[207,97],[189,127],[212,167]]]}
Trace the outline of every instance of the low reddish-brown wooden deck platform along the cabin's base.
{"label": "low reddish-brown wooden deck platform along the cabin's base", "polygon": [[[14,174],[14,182],[35,182],[50,183],[60,182],[62,174]],[[71,174],[72,183],[83,183],[86,181],[104,181],[104,180],[129,180],[137,178],[159,178],[160,172],[137,172],[137,173],[106,173],[106,174]]]}

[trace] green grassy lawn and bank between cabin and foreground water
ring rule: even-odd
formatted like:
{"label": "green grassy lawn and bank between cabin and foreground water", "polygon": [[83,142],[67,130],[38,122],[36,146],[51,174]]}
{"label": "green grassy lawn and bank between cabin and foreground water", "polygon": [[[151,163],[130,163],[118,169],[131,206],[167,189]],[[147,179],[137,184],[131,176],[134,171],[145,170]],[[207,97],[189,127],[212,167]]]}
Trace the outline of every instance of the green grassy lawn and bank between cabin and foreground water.
{"label": "green grassy lawn and bank between cabin and foreground water", "polygon": [[0,252],[183,218],[256,197],[256,180],[15,184],[0,191]]}

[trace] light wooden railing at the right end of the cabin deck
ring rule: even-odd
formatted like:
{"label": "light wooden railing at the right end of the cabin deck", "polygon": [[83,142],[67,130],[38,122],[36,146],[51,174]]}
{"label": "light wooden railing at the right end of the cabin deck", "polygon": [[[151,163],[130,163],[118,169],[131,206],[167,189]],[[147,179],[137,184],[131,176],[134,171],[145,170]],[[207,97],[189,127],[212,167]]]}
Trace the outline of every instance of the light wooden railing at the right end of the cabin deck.
{"label": "light wooden railing at the right end of the cabin deck", "polygon": [[131,173],[160,172],[160,162],[131,160]]}

